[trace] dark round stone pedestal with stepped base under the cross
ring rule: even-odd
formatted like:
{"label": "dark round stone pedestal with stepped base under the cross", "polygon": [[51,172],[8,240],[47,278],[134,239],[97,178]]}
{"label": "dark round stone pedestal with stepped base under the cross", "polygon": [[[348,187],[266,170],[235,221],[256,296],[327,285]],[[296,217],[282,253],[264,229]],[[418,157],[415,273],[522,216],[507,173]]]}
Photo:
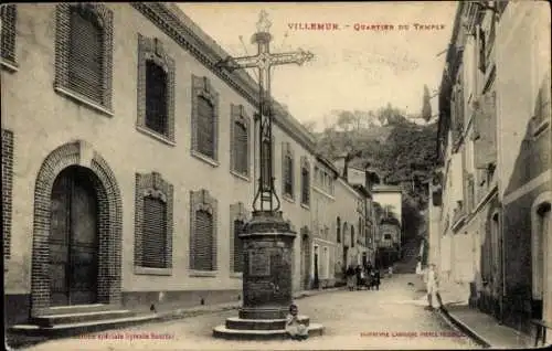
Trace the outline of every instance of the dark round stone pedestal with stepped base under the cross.
{"label": "dark round stone pedestal with stepped base under the cross", "polygon": [[[285,322],[293,304],[294,240],[296,233],[282,212],[257,211],[240,235],[244,243],[243,307],[238,318],[213,329],[213,336],[234,339],[285,338]],[[322,326],[310,325],[309,334],[321,334]]]}

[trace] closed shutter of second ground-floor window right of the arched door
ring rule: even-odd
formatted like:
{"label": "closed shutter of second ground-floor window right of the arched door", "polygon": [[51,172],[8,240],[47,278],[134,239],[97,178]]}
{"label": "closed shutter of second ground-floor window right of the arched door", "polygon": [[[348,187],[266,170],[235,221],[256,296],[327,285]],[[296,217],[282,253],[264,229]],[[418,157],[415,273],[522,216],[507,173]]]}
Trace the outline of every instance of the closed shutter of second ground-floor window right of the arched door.
{"label": "closed shutter of second ground-floor window right of the arched door", "polygon": [[200,210],[195,212],[193,245],[192,269],[213,270],[213,216],[206,211]]}

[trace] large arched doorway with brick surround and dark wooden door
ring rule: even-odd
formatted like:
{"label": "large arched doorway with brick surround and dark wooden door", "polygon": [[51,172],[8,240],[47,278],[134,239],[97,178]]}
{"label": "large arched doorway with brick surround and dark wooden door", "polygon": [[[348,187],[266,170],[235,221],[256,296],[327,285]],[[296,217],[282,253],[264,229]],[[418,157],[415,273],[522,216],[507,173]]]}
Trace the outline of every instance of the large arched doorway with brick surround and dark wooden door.
{"label": "large arched doorway with brick surround and dark wooden door", "polygon": [[121,195],[105,159],[84,140],[53,150],[34,188],[31,317],[120,306],[121,235]]}

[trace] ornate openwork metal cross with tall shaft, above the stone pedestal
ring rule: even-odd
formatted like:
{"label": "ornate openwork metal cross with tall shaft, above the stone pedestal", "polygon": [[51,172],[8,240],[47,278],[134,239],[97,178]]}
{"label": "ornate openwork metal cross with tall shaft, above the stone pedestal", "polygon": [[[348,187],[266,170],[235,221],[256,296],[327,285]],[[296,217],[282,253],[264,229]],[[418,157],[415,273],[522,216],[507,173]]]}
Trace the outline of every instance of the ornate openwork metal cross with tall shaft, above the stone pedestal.
{"label": "ornate openwork metal cross with tall shaft, above the stone pedestal", "polygon": [[[241,68],[258,70],[258,114],[256,119],[259,124],[259,159],[261,172],[258,179],[258,190],[253,200],[254,211],[277,211],[279,210],[279,200],[274,189],[273,174],[273,148],[272,148],[272,98],[270,98],[270,68],[277,65],[295,63],[302,65],[310,61],[314,55],[301,49],[295,52],[270,53],[269,43],[272,35],[268,32],[272,23],[268,14],[263,10],[259,20],[256,23],[257,32],[253,34],[252,42],[257,44],[257,54],[243,57],[226,57],[217,66],[227,71]],[[273,200],[276,200],[276,205]],[[258,202],[257,202],[258,201]],[[259,208],[257,208],[257,203]]]}

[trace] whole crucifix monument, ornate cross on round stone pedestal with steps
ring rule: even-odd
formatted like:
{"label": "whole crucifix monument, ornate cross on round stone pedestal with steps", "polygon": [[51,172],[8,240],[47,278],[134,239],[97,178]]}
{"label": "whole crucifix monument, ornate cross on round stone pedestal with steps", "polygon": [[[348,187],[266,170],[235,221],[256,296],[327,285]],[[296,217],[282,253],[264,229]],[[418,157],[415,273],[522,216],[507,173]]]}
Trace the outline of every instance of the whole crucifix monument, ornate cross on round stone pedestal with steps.
{"label": "whole crucifix monument, ornate cross on round stone pedestal with steps", "polygon": [[[259,177],[253,200],[252,219],[245,224],[240,238],[243,241],[243,306],[236,318],[215,327],[213,336],[219,338],[264,339],[285,337],[286,315],[293,302],[293,259],[296,233],[279,211],[279,199],[274,187],[272,155],[273,108],[270,97],[270,68],[276,65],[296,63],[301,65],[314,55],[298,50],[288,53],[270,53],[272,23],[267,13],[261,12],[257,32],[252,42],[257,44],[257,54],[243,57],[226,57],[219,68],[234,71],[257,68],[258,72],[258,148]],[[299,319],[309,325],[306,316]],[[310,325],[311,334],[321,334],[322,326]]]}

